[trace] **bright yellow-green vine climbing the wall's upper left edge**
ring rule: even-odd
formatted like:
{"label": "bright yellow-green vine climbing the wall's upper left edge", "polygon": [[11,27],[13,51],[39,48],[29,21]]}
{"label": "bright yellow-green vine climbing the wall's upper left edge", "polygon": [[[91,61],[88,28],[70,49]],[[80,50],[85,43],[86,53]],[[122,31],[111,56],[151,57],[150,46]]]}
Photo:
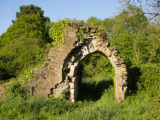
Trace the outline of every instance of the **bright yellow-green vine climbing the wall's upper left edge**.
{"label": "bright yellow-green vine climbing the wall's upper left edge", "polygon": [[68,25],[68,20],[61,20],[51,27],[49,31],[50,37],[53,39],[52,45],[63,45],[65,28]]}

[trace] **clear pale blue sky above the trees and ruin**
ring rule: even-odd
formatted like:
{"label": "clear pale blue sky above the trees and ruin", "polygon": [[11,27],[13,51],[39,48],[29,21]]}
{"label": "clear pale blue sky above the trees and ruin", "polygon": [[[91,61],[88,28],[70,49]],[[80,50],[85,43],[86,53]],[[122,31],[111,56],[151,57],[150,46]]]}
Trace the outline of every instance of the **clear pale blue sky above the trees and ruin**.
{"label": "clear pale blue sky above the trees and ruin", "polygon": [[110,18],[118,13],[118,0],[0,0],[0,35],[16,18],[22,5],[34,4],[44,10],[51,21],[64,18],[87,20],[90,16]]}

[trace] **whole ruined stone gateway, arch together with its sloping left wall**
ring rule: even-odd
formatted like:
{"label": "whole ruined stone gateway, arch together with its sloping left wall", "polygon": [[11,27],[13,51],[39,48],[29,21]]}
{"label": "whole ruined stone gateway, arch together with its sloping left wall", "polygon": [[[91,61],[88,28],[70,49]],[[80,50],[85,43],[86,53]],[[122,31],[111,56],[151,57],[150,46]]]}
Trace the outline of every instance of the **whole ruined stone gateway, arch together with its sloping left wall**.
{"label": "whole ruined stone gateway, arch together with its sloping left wall", "polygon": [[117,49],[107,41],[103,30],[70,21],[65,30],[64,44],[51,48],[44,65],[34,71],[27,85],[31,95],[55,98],[65,93],[75,102],[78,96],[78,66],[89,54],[100,52],[115,69],[115,98],[124,100],[127,92],[127,68]]}

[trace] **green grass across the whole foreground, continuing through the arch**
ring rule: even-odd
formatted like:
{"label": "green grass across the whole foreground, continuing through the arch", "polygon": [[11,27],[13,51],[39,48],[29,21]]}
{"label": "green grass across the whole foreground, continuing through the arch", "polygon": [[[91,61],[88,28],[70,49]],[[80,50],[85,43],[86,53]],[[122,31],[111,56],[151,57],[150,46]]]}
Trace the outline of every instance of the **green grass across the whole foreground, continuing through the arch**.
{"label": "green grass across the whole foreground, continuing through the arch", "polygon": [[[147,72],[147,66],[141,68],[141,71],[145,69],[141,79],[144,79],[143,75],[146,76],[144,73]],[[153,73],[154,71],[152,75]],[[157,87],[137,91],[136,94],[118,103],[114,97],[112,76],[101,74],[84,77],[82,88],[86,93],[82,91],[80,95],[83,97],[76,103],[63,99],[29,97],[27,94],[26,97],[12,95],[5,101],[0,100],[0,118],[1,120],[159,120],[159,82],[154,86]],[[13,94],[21,94],[21,88],[18,86],[16,88]]]}

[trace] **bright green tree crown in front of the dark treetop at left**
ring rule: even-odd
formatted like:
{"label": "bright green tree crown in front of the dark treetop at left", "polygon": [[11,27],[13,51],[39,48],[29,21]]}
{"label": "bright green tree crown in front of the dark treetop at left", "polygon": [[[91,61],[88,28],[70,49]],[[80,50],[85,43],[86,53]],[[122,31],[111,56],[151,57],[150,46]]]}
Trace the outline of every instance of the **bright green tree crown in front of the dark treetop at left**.
{"label": "bright green tree crown in front of the dark treetop at left", "polygon": [[46,41],[45,22],[39,14],[23,15],[1,36],[1,46],[15,42],[19,37],[37,38],[39,44]]}

